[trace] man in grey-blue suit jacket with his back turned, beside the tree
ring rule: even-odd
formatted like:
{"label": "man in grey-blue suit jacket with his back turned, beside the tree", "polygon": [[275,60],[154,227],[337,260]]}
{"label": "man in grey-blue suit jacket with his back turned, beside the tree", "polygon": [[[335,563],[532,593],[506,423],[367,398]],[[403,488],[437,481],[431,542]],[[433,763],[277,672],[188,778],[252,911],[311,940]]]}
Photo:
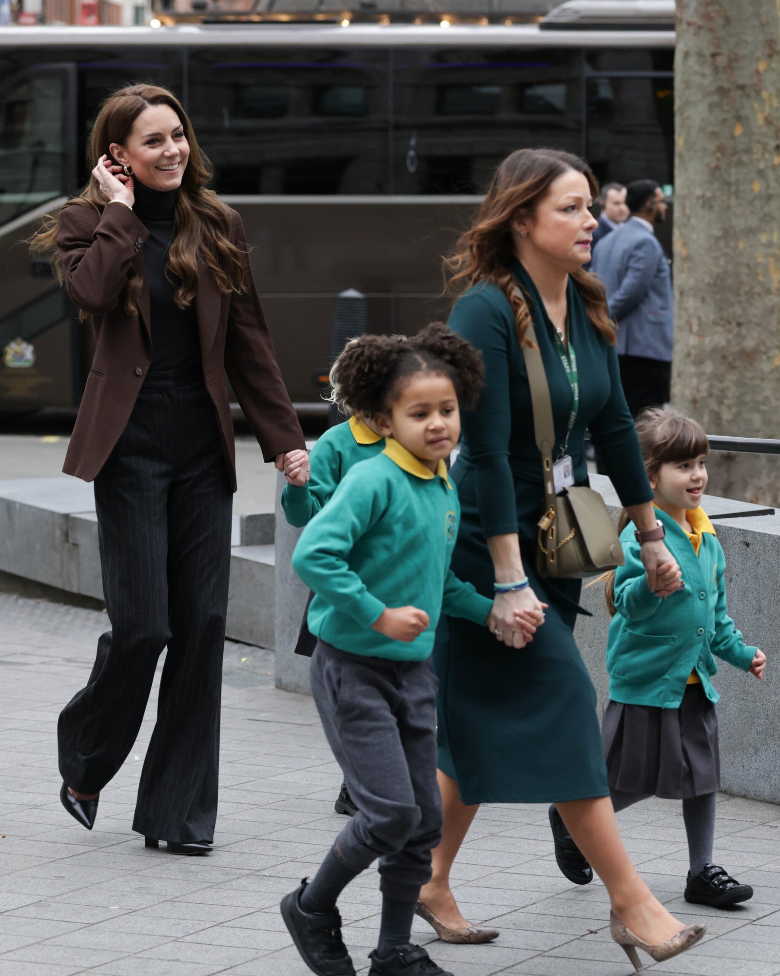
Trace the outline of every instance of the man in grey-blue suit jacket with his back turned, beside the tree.
{"label": "man in grey-blue suit jacket with his back turned, beside the tree", "polygon": [[590,269],[604,282],[619,326],[620,379],[636,417],[669,400],[674,300],[669,260],[654,231],[666,217],[661,187],[652,180],[629,183],[626,204],[631,217],[604,237]]}

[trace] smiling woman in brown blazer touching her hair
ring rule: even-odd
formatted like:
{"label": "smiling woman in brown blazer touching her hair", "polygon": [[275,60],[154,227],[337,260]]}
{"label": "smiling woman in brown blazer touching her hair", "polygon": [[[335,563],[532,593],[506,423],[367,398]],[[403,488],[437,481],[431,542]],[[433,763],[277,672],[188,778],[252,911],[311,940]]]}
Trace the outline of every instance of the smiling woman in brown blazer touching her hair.
{"label": "smiling woman in brown blazer touching her hair", "polygon": [[96,351],[63,470],[95,481],[111,630],[59,715],[60,798],[92,829],[133,748],[168,648],[134,830],[157,847],[214,841],[235,448],[229,379],[266,461],[304,447],[254,287],[241,218],[206,188],[176,98],[103,103],[92,178],[36,235]]}

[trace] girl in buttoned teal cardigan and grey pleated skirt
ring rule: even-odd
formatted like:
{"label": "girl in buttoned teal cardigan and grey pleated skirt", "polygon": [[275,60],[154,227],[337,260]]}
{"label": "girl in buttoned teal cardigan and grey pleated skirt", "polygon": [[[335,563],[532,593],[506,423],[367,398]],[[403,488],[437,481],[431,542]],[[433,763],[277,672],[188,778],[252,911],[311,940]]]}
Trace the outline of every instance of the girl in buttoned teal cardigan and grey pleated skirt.
{"label": "girl in buttoned teal cardigan and grey pleated skirt", "polygon": [[707,435],[695,421],[658,408],[643,412],[637,433],[683,589],[666,599],[647,589],[634,524],[623,516],[626,562],[607,582],[613,617],[602,735],[609,790],[615,811],[652,795],[683,800],[690,862],[685,901],[725,908],[752,898],[753,888],[712,863],[721,769],[720,695],[711,677],[719,657],[761,678],[766,656],[745,644],[726,612],[725,558],[700,508]]}

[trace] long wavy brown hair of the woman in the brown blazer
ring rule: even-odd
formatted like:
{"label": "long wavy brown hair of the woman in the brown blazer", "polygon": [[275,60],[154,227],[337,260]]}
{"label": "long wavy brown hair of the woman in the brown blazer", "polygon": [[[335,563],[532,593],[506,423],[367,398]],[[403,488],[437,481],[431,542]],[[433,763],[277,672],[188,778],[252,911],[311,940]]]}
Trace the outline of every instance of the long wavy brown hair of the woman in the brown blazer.
{"label": "long wavy brown hair of the woman in the brown blazer", "polygon": [[[172,92],[157,85],[127,85],[109,95],[100,105],[98,118],[90,135],[87,154],[89,168],[92,170],[98,165],[98,159],[108,153],[108,146],[112,142],[122,145],[127,141],[138,115],[151,105],[168,105],[173,108],[181,122],[184,138],[189,143],[189,159],[176,194],[174,239],[166,265],[166,276],[169,280],[173,282],[172,276],[176,276],[179,281],[175,295],[176,305],[186,308],[195,298],[198,291],[199,257],[214,274],[221,292],[240,293],[244,290],[244,264],[242,252],[230,242],[230,211],[214,190],[206,188],[206,183],[212,178],[211,163],[201,151],[192,123]],[[72,206],[92,207],[101,214],[107,203],[98,181],[90,175],[89,182],[81,193],[68,200],[62,210]],[[50,259],[61,282],[58,226],[59,216],[47,215],[29,244],[34,253]],[[131,267],[125,289],[125,308],[131,315],[137,314],[140,290],[141,279],[136,269]],[[81,312],[81,317],[87,317],[84,311]]]}

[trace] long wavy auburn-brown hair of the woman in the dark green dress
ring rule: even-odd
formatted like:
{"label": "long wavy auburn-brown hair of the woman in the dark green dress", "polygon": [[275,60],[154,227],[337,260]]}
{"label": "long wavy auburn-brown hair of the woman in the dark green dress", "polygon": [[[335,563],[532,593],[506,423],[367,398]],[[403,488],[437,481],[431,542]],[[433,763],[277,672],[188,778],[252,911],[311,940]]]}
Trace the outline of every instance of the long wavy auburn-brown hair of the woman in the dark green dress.
{"label": "long wavy auburn-brown hair of the woman in the dark green dress", "polygon": [[[516,260],[511,225],[518,217],[532,217],[550,184],[568,170],[581,173],[594,198],[599,183],[588,164],[570,152],[558,149],[518,149],[500,164],[487,188],[487,195],[469,229],[461,234],[454,252],[444,260],[445,289],[457,298],[480,281],[492,281],[506,295],[515,313],[521,346],[526,344],[530,321],[528,303],[515,294],[517,281],[512,273]],[[582,296],[588,318],[610,343],[615,342],[615,324],[606,310],[604,286],[588,271],[572,273]],[[525,293],[524,293],[525,294]]]}

